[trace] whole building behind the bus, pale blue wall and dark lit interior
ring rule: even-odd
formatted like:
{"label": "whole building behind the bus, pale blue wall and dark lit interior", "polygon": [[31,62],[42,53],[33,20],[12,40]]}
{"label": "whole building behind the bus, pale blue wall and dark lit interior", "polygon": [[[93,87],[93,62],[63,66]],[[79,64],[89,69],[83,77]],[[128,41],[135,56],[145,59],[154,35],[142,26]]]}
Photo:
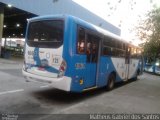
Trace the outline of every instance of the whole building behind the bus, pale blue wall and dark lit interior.
{"label": "whole building behind the bus, pale blue wall and dark lit interior", "polygon": [[0,5],[0,43],[2,36],[24,38],[27,19],[39,15],[69,14],[116,35],[121,34],[118,27],[72,0],[0,0]]}

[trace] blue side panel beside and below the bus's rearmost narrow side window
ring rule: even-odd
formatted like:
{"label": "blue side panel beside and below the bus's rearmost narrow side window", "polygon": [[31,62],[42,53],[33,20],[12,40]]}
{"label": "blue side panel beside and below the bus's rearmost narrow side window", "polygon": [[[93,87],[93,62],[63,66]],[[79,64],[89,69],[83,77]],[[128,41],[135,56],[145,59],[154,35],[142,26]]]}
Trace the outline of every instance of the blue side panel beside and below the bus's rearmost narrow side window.
{"label": "blue side panel beside and below the bus's rearmost narrow side window", "polygon": [[86,78],[86,55],[77,54],[77,30],[78,26],[76,22],[73,22],[74,27],[71,32],[74,33],[72,36],[72,43],[70,44],[72,48],[72,59],[71,59],[71,69],[72,69],[72,85],[71,91],[82,92],[85,88]]}

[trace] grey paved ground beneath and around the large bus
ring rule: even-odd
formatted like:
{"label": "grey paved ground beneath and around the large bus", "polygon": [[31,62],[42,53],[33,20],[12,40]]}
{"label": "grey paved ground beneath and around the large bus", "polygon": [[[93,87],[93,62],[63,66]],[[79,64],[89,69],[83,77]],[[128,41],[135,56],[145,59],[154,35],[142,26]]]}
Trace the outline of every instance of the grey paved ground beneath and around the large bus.
{"label": "grey paved ground beneath and around the large bus", "polygon": [[119,83],[110,92],[102,88],[76,94],[25,82],[22,63],[0,58],[0,113],[35,115],[34,119],[43,120],[52,119],[53,114],[160,113],[160,76],[144,73],[139,80]]}

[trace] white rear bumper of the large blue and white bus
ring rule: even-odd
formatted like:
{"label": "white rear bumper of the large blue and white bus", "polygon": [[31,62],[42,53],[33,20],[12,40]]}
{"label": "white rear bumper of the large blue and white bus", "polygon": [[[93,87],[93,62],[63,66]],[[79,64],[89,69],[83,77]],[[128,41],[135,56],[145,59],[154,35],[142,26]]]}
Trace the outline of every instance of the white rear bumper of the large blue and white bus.
{"label": "white rear bumper of the large blue and white bus", "polygon": [[22,69],[22,74],[28,81],[49,83],[50,86],[64,91],[70,91],[71,88],[71,78],[67,76],[63,76],[61,78],[50,78],[50,77],[35,75],[26,72],[23,69]]}

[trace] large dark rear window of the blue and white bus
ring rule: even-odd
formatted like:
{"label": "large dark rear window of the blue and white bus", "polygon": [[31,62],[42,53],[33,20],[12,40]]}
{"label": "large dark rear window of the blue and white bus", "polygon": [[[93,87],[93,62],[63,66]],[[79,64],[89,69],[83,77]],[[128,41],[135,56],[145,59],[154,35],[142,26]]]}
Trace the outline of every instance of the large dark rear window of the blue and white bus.
{"label": "large dark rear window of the blue and white bus", "polygon": [[63,44],[63,31],[62,20],[31,22],[28,27],[27,44],[31,47],[58,48]]}

